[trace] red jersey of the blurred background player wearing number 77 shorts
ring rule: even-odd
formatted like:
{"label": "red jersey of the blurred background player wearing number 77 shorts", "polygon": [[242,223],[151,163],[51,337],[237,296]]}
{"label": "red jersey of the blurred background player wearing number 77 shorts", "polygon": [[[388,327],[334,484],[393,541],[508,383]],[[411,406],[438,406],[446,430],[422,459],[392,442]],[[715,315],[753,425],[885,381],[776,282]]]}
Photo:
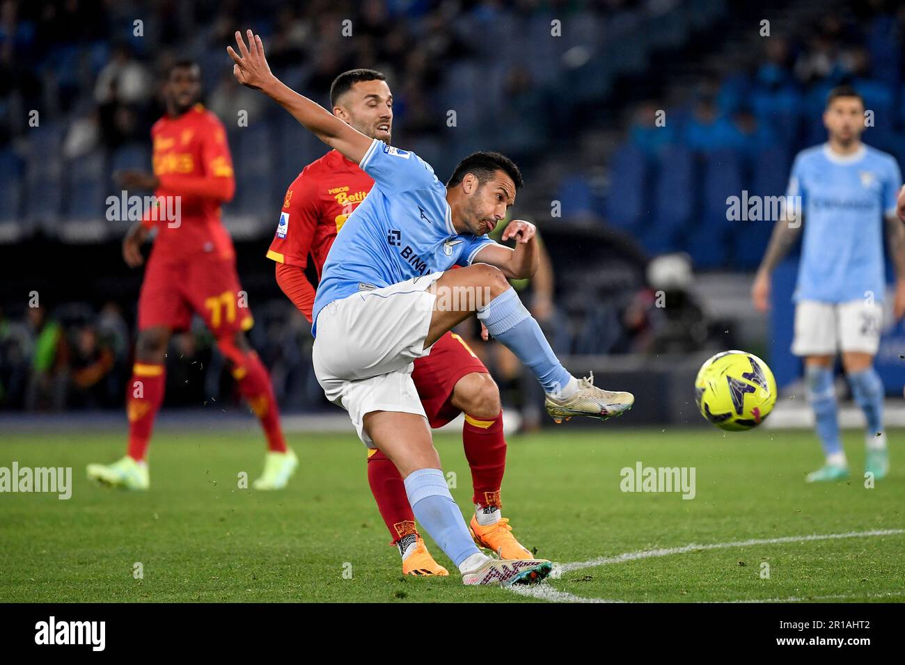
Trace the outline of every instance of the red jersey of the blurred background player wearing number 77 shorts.
{"label": "red jersey of the blurred background player wearing number 77 shorts", "polygon": [[196,104],[178,118],[157,120],[151,139],[154,175],[160,181],[154,194],[167,197],[159,206],[160,214],[145,215],[149,227],[157,226],[154,251],[175,259],[187,259],[196,252],[233,258],[233,241],[220,211],[235,192],[223,123]]}

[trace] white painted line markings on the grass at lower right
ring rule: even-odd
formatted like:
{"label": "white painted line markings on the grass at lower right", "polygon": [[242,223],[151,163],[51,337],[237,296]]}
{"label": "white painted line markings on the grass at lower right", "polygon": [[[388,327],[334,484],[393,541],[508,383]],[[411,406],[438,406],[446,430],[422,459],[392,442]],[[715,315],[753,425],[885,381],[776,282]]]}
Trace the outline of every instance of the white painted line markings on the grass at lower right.
{"label": "white painted line markings on the grass at lower right", "polygon": [[[783,543],[806,543],[814,540],[837,540],[841,538],[867,538],[882,536],[900,536],[905,534],[905,528],[885,528],[873,529],[871,531],[848,531],[841,534],[812,534],[810,536],[784,536],[776,538],[750,538],[748,540],[734,540],[728,543],[710,543],[710,545],[685,545],[681,547],[664,547],[661,549],[645,549],[636,552],[624,552],[616,556],[599,556],[588,561],[576,561],[571,564],[554,564],[550,573],[550,579],[559,579],[563,573],[573,570],[582,570],[584,568],[594,568],[598,565],[622,564],[626,561],[638,561],[639,559],[648,559],[659,556],[672,556],[675,554],[685,554],[687,552],[700,552],[711,549],[729,549],[730,547],[748,547],[755,545],[779,545]],[[538,586],[511,586],[510,589],[519,595],[531,596],[546,600],[551,603],[624,603],[625,601],[605,599],[605,598],[583,598],[575,594],[569,594],[565,591],[549,586],[548,584],[539,584]],[[885,597],[887,595],[905,595],[899,592],[891,592],[889,594],[867,595],[867,596],[845,596],[838,597]],[[802,598],[771,598],[767,600],[752,601],[729,601],[730,603],[795,603],[801,600],[829,600],[836,596],[813,596],[808,599]]]}

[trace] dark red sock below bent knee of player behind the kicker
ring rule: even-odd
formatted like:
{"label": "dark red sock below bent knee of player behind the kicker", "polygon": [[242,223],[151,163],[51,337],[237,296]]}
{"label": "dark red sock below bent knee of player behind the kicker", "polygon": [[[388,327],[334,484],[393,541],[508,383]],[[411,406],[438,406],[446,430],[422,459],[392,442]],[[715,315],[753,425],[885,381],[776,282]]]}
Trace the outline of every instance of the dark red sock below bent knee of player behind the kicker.
{"label": "dark red sock below bent knee of player behind the kicker", "polygon": [[465,458],[472,469],[472,501],[484,508],[501,508],[500,485],[506,470],[506,438],[503,436],[503,413],[494,420],[478,420],[465,414],[462,426]]}

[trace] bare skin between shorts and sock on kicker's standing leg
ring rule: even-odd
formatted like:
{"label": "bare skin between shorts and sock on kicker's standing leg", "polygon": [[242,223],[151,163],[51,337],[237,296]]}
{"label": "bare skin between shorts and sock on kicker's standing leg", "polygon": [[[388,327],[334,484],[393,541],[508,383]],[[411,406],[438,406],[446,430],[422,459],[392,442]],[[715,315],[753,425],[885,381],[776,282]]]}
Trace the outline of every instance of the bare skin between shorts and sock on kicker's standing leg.
{"label": "bare skin between shorts and sock on kicker's standing leg", "polygon": [[395,464],[405,479],[421,469],[440,469],[440,456],[433,447],[424,417],[398,411],[365,414],[365,432],[377,450]]}

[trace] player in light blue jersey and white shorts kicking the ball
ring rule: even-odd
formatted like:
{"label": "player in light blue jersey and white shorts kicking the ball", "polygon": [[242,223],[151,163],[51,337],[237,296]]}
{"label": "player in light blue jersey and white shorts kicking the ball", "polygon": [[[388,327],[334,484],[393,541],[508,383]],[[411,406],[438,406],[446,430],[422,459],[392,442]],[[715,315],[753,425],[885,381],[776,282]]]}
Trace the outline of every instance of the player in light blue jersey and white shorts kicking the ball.
{"label": "player in light blue jersey and white shorts kicking the ball", "polygon": [[[330,249],[314,303],[312,362],[334,404],[345,408],[358,436],[389,457],[404,478],[409,503],[464,584],[513,584],[548,575],[544,560],[499,561],[472,542],[433,448],[424,407],[412,381],[413,360],[477,313],[488,331],[529,366],[558,419],[605,420],[631,408],[634,397],[576,379],[553,354],[538,322],[508,279],[537,269],[538,243],[528,222],[513,222],[503,239],[486,238],[515,202],[519,169],[497,153],[467,157],[443,185],[414,153],[367,138],[283,85],[270,71],[261,38],[236,33],[228,49],[233,73],[374,178]],[[453,265],[461,270],[450,271]]]}

